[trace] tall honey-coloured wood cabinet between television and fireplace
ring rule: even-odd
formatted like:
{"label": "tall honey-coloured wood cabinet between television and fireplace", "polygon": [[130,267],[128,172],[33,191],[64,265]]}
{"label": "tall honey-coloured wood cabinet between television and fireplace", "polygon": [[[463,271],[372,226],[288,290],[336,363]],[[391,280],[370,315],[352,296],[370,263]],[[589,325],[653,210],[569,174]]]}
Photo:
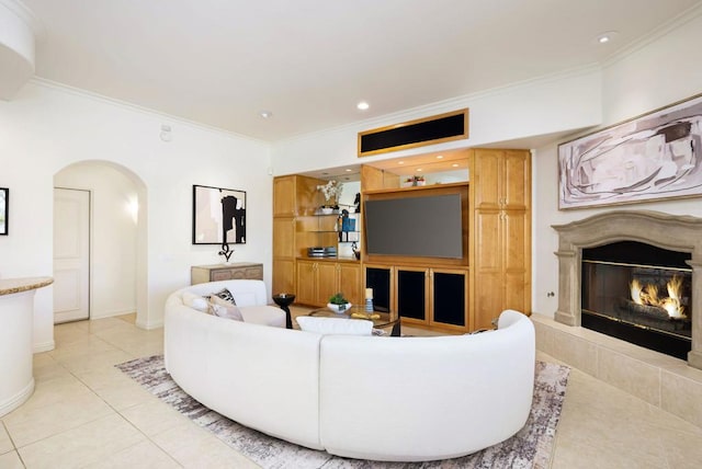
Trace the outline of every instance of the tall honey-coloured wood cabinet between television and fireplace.
{"label": "tall honey-coloured wood cabinet between television and fireplace", "polygon": [[531,309],[531,155],[472,150],[473,329],[505,309]]}

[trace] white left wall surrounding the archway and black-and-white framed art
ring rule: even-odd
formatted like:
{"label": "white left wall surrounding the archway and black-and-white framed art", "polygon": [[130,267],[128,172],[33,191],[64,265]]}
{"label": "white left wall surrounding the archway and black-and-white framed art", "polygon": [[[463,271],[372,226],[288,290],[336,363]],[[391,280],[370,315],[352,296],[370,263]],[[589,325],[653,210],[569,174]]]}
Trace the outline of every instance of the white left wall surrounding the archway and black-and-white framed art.
{"label": "white left wall surrounding the archway and black-and-white framed art", "polygon": [[[173,140],[159,139],[161,124]],[[192,185],[247,192],[247,244],[233,261],[264,264],[270,289],[272,178],[269,146],[137,107],[33,81],[0,102],[0,186],[10,187],[10,236],[0,237],[0,277],[53,272],[54,175],[86,160],[120,164],[140,198],[137,321],[162,323],[163,301],[190,282],[190,266],[217,263],[217,247],[192,245]],[[36,295],[35,350],[53,346],[53,287]]]}

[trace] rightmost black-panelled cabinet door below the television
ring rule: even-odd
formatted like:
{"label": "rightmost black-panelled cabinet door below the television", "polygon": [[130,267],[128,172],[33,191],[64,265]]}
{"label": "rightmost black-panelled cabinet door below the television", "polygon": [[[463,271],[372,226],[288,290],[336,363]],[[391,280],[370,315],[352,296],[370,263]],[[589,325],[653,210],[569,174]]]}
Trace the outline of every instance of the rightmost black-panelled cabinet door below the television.
{"label": "rightmost black-panelled cabinet door below the television", "polygon": [[465,271],[431,272],[431,323],[461,328],[467,323],[468,276]]}

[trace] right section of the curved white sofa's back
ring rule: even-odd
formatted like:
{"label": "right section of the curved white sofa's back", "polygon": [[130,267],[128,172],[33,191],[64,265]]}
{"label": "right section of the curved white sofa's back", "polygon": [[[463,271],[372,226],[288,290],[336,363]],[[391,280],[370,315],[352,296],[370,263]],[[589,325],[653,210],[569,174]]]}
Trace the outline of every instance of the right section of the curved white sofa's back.
{"label": "right section of the curved white sofa's back", "polygon": [[498,325],[468,336],[325,336],[321,444],[346,457],[427,460],[512,436],[531,409],[534,328],[510,310]]}

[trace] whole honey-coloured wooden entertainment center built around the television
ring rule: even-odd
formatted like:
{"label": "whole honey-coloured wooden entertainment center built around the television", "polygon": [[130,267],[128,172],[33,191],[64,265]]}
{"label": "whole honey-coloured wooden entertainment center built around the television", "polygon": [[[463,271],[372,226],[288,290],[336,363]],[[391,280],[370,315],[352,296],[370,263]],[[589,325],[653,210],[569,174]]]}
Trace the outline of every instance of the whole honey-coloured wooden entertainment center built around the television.
{"label": "whole honey-coloured wooden entertainment center built around the television", "polygon": [[373,288],[376,307],[399,314],[403,324],[453,332],[492,328],[503,309],[531,307],[531,155],[529,150],[467,149],[469,181],[400,187],[392,172],[361,167],[361,197],[367,201],[458,194],[463,256],[369,254],[361,214],[361,259],[310,259],[312,247],[337,245],[338,214],[324,215],[317,185],[305,175],[273,182],[273,294],[324,306],[337,291],[353,304]]}

